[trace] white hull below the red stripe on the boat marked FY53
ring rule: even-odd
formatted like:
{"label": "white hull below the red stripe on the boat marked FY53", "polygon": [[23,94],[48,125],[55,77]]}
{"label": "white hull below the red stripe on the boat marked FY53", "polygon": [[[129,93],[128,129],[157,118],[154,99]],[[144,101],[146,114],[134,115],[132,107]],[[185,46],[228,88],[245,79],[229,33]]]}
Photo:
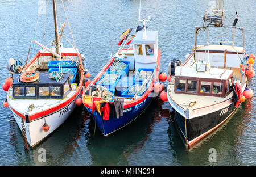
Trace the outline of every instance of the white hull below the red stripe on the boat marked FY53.
{"label": "white hull below the red stripe on the boat marked FY53", "polygon": [[[32,120],[29,123],[24,120],[24,126],[26,128],[26,138],[28,145],[31,147],[36,146],[44,140],[49,134],[54,132],[58,127],[60,127],[61,124],[64,123],[65,120],[71,115],[73,110],[76,108],[75,100],[73,100],[71,103],[69,103],[67,106],[51,113],[51,115],[47,115],[44,117],[39,117],[36,120]],[[22,118],[11,109],[11,112],[13,112],[14,118],[16,123],[19,126],[19,129],[22,132]],[[44,132],[42,129],[42,126],[44,124],[44,121],[49,125],[48,132]]]}

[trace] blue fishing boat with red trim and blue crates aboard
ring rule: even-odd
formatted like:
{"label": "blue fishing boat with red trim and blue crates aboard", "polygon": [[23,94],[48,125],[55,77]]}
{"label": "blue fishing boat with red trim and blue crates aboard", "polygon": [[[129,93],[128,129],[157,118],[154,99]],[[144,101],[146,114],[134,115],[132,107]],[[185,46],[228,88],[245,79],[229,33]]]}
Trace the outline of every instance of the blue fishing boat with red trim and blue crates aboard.
{"label": "blue fishing boat with red trim and blue crates aboard", "polygon": [[143,27],[138,26],[134,35],[132,28],[123,32],[118,52],[84,87],[83,104],[104,136],[139,117],[158,95],[158,31],[146,30],[148,20],[141,20]]}

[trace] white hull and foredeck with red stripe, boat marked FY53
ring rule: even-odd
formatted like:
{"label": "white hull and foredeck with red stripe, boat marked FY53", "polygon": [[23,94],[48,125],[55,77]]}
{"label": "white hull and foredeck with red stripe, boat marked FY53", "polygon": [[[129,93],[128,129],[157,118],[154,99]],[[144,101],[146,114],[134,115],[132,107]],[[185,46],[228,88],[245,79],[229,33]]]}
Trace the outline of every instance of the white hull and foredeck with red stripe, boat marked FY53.
{"label": "white hull and foredeck with red stripe, boat marked FY53", "polygon": [[[11,94],[12,91],[10,90],[9,92]],[[32,100],[31,99],[31,100],[26,100],[26,102],[24,102],[24,100],[22,100],[22,99],[20,99],[20,100],[7,99],[9,102],[9,108],[11,109],[11,112],[13,112],[16,123],[19,125],[19,128],[21,131],[22,131],[22,117],[20,115],[23,115],[23,119],[24,119],[24,113],[27,113],[28,117],[30,117],[31,115],[35,115],[40,112],[44,112],[47,109],[48,110],[52,109],[52,112],[49,113],[48,115],[45,115],[42,117],[36,117],[33,120],[29,120],[29,123],[27,123],[26,119],[24,119],[27,142],[31,147],[34,147],[40,141],[44,140],[44,138],[46,138],[49,134],[54,132],[61,124],[64,123],[65,120],[67,120],[67,118],[71,115],[73,110],[76,108],[76,104],[75,104],[76,97],[75,97],[75,99],[73,99],[71,101],[68,100],[74,94],[76,94],[76,91],[71,91],[68,94],[68,96],[63,100],[61,100],[61,99]],[[7,96],[7,98],[8,98],[8,96]],[[57,107],[61,103],[65,103],[66,106],[60,107],[57,110],[53,109],[53,107]],[[35,105],[35,108],[33,108],[32,111],[28,111],[28,106],[30,104]],[[37,108],[37,106],[38,106],[38,108]],[[47,132],[44,132],[44,130],[42,129],[42,127],[44,125],[44,121],[46,121],[46,123],[50,127]]]}

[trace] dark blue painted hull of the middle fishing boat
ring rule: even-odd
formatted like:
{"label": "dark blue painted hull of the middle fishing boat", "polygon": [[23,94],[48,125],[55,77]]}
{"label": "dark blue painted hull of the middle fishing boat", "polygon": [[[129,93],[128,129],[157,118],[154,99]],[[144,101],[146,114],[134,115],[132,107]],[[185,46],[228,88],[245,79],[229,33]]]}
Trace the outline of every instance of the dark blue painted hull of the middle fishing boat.
{"label": "dark blue painted hull of the middle fishing boat", "polygon": [[[118,129],[121,129],[125,125],[131,123],[131,121],[135,120],[139,115],[141,115],[145,109],[150,105],[151,100],[153,99],[152,94],[154,90],[148,95],[146,99],[144,99],[141,103],[136,104],[135,106],[125,108],[123,110],[123,116],[120,116],[119,119],[115,117],[114,110],[110,108],[109,120],[103,120],[103,116],[100,115],[96,110],[94,110],[92,117],[95,121],[96,117],[96,125],[98,129],[104,134],[104,136],[108,136],[109,134],[115,132]],[[92,109],[85,107],[89,112],[92,112]]]}

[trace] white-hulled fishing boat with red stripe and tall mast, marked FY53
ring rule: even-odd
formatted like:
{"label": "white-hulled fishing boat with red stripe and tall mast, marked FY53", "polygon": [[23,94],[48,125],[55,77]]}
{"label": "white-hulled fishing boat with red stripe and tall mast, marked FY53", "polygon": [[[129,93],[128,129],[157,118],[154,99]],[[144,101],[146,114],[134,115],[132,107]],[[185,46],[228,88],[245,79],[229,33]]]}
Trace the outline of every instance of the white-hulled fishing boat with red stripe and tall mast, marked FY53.
{"label": "white-hulled fishing boat with red stripe and tall mast, marked FY53", "polygon": [[76,103],[80,101],[82,104],[79,97],[85,77],[86,69],[82,64],[85,58],[76,48],[75,42],[72,48],[64,48],[63,43],[60,43],[65,37],[65,23],[59,33],[55,0],[52,5],[54,47],[47,48],[33,39],[33,43],[42,47],[34,58],[25,65],[13,59],[7,62],[7,69],[12,76],[3,85],[7,91],[4,104],[13,112],[22,131],[24,147],[28,147],[27,144],[34,147],[44,140],[71,115]]}

